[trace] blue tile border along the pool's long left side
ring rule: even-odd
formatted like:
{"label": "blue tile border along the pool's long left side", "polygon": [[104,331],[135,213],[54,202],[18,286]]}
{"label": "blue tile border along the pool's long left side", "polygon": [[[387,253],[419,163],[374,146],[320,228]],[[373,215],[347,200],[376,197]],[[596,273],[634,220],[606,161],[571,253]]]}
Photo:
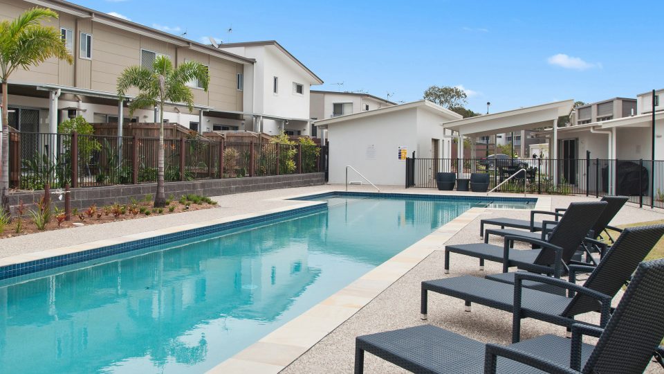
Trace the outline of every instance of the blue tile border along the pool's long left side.
{"label": "blue tile border along the pool's long left side", "polygon": [[127,253],[131,251],[136,251],[138,249],[144,249],[158,244],[165,244],[169,242],[175,242],[177,240],[183,240],[187,238],[192,238],[194,236],[206,235],[210,233],[221,233],[222,231],[229,229],[237,229],[242,226],[250,226],[252,224],[269,222],[277,220],[283,217],[289,217],[293,215],[299,215],[302,213],[311,213],[313,211],[321,211],[327,208],[327,204],[315,204],[312,206],[303,206],[300,208],[289,209],[287,211],[280,211],[275,213],[268,213],[264,215],[258,215],[256,217],[249,217],[242,220],[234,220],[231,222],[224,222],[221,224],[212,224],[210,226],[199,227],[196,229],[179,231],[177,233],[169,233],[165,235],[158,235],[154,238],[145,238],[139,240],[133,240],[131,242],[124,242],[119,244],[113,244],[105,247],[87,249],[85,251],[68,253],[61,256],[53,256],[49,258],[40,258],[39,260],[33,260],[28,262],[21,262],[18,264],[6,265],[0,267],[0,280],[7,278],[14,278],[17,276],[24,276],[26,274],[37,273],[39,271],[44,271],[48,269],[54,269],[56,267],[64,267],[67,265],[73,265],[79,262],[85,262],[89,260],[95,260],[98,258],[104,258],[109,256],[115,256],[121,253]]}

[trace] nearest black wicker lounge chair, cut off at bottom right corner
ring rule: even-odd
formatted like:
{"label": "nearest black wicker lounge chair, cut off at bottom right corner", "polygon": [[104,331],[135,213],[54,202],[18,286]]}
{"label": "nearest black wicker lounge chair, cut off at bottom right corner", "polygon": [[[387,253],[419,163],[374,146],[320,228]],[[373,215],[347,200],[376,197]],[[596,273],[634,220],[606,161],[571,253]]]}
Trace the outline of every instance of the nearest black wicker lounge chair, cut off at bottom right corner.
{"label": "nearest black wicker lounge chair, cut off at bottom right corner", "polygon": [[[355,373],[364,371],[365,352],[413,373],[642,373],[661,352],[663,284],[664,260],[640,264],[606,328],[574,324],[572,339],[485,345],[431,325],[357,337]],[[599,337],[596,346],[584,335]]]}

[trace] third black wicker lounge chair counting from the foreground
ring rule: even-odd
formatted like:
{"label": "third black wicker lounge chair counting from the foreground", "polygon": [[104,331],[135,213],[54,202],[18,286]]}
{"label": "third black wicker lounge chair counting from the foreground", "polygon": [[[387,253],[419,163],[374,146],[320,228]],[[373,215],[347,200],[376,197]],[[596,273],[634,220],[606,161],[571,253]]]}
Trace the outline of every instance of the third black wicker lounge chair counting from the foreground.
{"label": "third black wicker lounge chair counting from the foreground", "polygon": [[[450,272],[450,253],[460,253],[479,258],[480,269],[484,268],[484,261],[489,260],[502,262],[504,273],[508,271],[509,267],[516,266],[519,269],[540,274],[560,276],[607,204],[607,202],[573,202],[569,204],[568,210],[555,224],[546,241],[507,235],[504,238],[503,246],[488,243],[445,246],[445,274]],[[545,225],[547,223],[545,221]],[[511,246],[513,242],[527,242],[537,245],[541,249],[513,249]]]}

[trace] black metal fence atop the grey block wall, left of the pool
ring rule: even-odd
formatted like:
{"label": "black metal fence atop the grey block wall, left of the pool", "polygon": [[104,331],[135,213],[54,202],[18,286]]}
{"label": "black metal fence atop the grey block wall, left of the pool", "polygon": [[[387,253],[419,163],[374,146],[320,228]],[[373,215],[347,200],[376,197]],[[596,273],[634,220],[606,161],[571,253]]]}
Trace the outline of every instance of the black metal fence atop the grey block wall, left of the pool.
{"label": "black metal fence atop the grey block wall, left of the pool", "polygon": [[[10,186],[21,190],[157,181],[159,139],[12,132]],[[327,149],[311,144],[165,139],[165,181],[326,172]]]}

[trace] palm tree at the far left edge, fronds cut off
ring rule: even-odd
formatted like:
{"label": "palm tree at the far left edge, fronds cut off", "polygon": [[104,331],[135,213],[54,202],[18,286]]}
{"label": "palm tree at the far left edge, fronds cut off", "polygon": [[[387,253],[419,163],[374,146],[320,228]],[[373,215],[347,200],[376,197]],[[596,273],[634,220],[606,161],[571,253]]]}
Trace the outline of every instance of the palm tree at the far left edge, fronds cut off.
{"label": "palm tree at the far left edge, fronds cut off", "polygon": [[32,8],[11,22],[0,22],[0,80],[2,81],[3,108],[0,196],[3,205],[6,205],[5,196],[9,188],[9,103],[7,100],[9,76],[16,69],[28,70],[31,66],[41,64],[50,57],[66,60],[70,64],[74,60],[67,51],[59,31],[50,26],[42,26],[42,21],[52,18],[57,18],[57,13],[53,10]]}

